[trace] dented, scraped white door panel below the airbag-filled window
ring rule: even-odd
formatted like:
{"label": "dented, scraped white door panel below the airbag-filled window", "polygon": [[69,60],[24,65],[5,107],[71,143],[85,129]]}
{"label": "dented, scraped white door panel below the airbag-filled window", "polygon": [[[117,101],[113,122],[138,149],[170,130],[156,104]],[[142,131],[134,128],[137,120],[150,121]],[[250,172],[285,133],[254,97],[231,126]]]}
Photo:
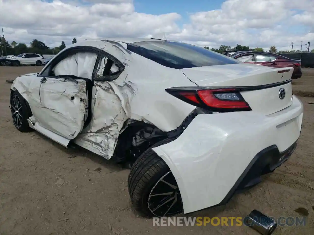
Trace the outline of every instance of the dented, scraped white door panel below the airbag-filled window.
{"label": "dented, scraped white door panel below the airbag-filled window", "polygon": [[44,128],[73,139],[84,126],[86,91],[84,79],[42,77],[39,89],[41,106],[33,114]]}

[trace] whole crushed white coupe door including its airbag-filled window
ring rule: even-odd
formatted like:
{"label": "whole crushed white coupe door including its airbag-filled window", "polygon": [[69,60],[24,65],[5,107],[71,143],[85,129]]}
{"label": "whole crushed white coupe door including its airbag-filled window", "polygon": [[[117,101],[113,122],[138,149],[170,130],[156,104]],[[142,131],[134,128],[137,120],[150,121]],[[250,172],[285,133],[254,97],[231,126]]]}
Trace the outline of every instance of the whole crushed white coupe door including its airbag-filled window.
{"label": "whole crushed white coupe door including its airbag-filled window", "polygon": [[30,101],[33,120],[45,128],[43,134],[63,146],[84,128],[97,57],[98,52],[93,50],[70,48],[53,58],[38,75],[38,96]]}

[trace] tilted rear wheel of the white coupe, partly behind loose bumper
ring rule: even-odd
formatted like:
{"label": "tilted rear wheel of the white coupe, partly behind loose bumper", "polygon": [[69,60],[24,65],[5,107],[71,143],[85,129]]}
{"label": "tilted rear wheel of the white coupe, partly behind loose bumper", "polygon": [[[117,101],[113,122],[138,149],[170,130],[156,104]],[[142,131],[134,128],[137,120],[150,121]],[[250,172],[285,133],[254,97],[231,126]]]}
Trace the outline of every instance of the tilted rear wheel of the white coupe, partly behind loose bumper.
{"label": "tilted rear wheel of the white coupe, partly behind loose bumper", "polygon": [[[173,139],[164,139],[149,149],[146,149],[135,161],[130,170],[127,182],[129,195],[133,206],[143,216],[175,216],[183,212],[181,195],[175,177],[164,160],[152,150],[154,147],[167,144],[171,141]],[[165,181],[170,183],[172,187],[165,183]],[[156,196],[156,194],[169,192],[172,192],[171,195]],[[155,196],[152,196],[153,194]],[[162,200],[170,201],[154,210],[158,207],[156,205]],[[172,205],[172,203],[174,204]]]}

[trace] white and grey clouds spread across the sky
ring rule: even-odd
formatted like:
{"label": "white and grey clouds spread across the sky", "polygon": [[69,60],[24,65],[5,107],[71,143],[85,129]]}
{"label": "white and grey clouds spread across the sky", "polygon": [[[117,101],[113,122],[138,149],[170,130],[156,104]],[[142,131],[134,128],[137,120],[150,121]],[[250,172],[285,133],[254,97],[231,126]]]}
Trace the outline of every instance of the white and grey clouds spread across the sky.
{"label": "white and grey clouds spread across the sky", "polygon": [[178,13],[138,13],[133,0],[0,0],[0,9],[9,42],[38,39],[51,47],[68,44],[73,37],[149,37],[161,32],[168,39],[214,48],[242,44],[289,50],[292,41],[295,46],[300,41],[314,44],[313,0],[227,0],[220,9],[189,15],[182,27],[176,23]]}

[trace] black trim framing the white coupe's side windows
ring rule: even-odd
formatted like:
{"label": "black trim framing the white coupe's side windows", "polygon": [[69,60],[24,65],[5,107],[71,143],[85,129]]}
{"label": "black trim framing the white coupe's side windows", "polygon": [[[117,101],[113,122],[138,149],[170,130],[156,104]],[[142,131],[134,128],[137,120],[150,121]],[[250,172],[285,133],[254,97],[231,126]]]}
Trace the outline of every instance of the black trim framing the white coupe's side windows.
{"label": "black trim framing the white coupe's side windows", "polygon": [[[122,73],[122,71],[125,69],[125,66],[122,64],[122,62],[118,59],[116,59],[116,57],[114,57],[113,55],[110,55],[109,53],[93,47],[93,46],[75,46],[75,47],[70,47],[66,50],[64,50],[60,55],[58,56],[54,56],[50,61],[49,61],[49,65],[42,70],[39,74],[38,77],[45,77],[45,78],[58,78],[58,76],[49,76],[48,74],[50,74],[52,68],[57,65],[61,60],[63,60],[64,58],[68,57],[68,55],[70,54],[75,54],[78,52],[95,52],[97,54],[97,59],[94,65],[94,70],[92,73],[92,77],[91,77],[91,81],[93,83],[94,86],[94,81],[113,81],[115,79],[117,79],[120,74]],[[107,58],[110,58],[112,61],[114,61],[120,68],[120,70],[118,72],[115,72],[112,75],[108,75],[108,76],[104,76],[101,77],[101,79],[96,79],[96,73],[97,73],[97,69],[99,67],[99,64],[101,62],[101,58],[102,56],[106,56]],[[90,80],[88,78],[79,78],[82,80]]]}

